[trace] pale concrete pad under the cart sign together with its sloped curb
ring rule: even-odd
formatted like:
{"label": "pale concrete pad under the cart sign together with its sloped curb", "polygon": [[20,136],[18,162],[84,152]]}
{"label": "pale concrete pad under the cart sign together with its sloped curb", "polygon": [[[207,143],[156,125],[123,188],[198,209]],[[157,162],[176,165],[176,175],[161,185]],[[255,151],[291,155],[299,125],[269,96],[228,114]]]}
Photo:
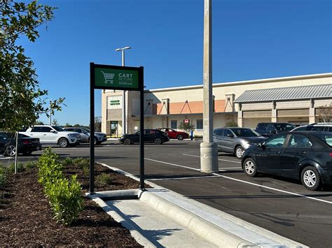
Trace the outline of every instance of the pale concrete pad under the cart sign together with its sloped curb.
{"label": "pale concrete pad under the cart sign together with its sloped curb", "polygon": [[[111,169],[138,180],[122,170]],[[157,184],[146,183],[153,189],[90,195],[144,247],[306,247]]]}

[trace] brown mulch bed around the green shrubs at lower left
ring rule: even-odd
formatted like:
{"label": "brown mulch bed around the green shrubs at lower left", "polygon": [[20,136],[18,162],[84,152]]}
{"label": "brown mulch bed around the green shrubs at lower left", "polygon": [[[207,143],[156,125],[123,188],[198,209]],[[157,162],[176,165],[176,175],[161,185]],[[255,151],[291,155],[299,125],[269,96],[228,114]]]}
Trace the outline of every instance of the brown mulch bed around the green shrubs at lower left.
{"label": "brown mulch bed around the green shrubs at lower left", "polygon": [[[11,175],[0,189],[0,246],[94,246],[140,247],[130,232],[114,221],[92,200],[85,198],[85,209],[76,224],[63,226],[52,219],[48,200],[37,182],[36,168]],[[74,166],[66,175],[76,174],[89,189],[89,178]],[[139,182],[96,165],[96,174],[109,173],[112,184],[96,191],[137,189]],[[83,192],[82,192],[83,194]]]}

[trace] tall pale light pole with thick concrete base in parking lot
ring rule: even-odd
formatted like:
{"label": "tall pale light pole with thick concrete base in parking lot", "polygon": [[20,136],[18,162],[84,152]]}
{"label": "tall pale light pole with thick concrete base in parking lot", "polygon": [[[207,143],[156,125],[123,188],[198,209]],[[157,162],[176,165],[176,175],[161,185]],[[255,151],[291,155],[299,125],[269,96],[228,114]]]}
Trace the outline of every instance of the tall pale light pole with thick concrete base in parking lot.
{"label": "tall pale light pole with thick concrete base in parking lot", "polygon": [[200,170],[219,172],[218,146],[213,143],[212,97],[212,0],[204,1],[203,51],[203,142],[200,143]]}

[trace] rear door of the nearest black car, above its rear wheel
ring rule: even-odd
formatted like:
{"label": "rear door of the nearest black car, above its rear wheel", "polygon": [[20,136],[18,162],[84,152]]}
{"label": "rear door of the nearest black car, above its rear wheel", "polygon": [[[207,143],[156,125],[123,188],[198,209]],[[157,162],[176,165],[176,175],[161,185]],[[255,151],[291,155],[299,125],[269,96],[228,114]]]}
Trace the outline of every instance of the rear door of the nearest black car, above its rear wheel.
{"label": "rear door of the nearest black car, above its rear wheel", "polygon": [[281,154],[282,175],[298,178],[299,163],[309,156],[311,147],[312,142],[307,136],[291,134]]}

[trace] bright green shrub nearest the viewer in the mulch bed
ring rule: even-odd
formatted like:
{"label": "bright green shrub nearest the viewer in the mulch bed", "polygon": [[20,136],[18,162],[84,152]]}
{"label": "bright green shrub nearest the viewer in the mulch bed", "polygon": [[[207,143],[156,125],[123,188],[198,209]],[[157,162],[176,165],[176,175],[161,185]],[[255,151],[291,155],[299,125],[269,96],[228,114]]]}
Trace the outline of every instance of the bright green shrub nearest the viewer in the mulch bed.
{"label": "bright green shrub nearest the viewer in the mulch bed", "polygon": [[76,180],[76,175],[71,180],[61,178],[48,188],[48,199],[53,210],[53,218],[57,222],[70,225],[78,218],[83,210],[83,196],[81,184]]}

